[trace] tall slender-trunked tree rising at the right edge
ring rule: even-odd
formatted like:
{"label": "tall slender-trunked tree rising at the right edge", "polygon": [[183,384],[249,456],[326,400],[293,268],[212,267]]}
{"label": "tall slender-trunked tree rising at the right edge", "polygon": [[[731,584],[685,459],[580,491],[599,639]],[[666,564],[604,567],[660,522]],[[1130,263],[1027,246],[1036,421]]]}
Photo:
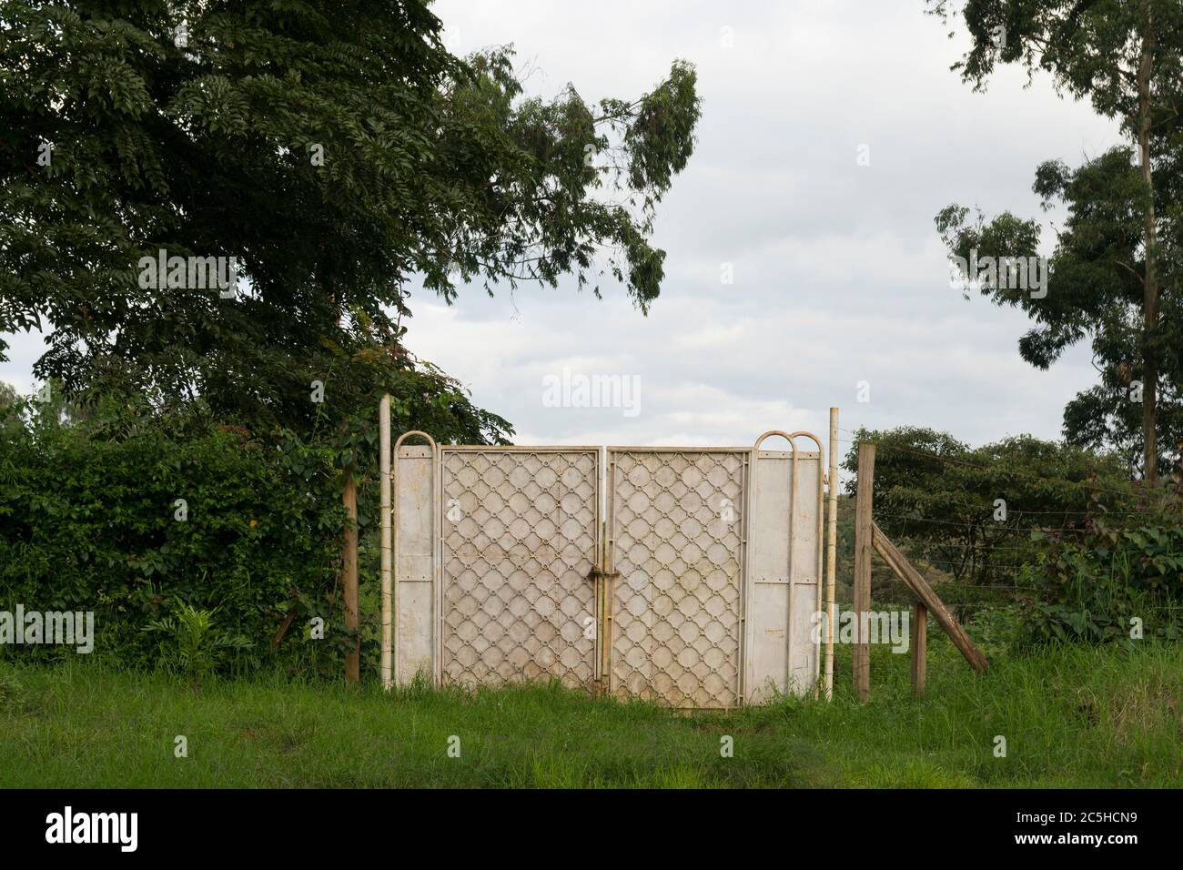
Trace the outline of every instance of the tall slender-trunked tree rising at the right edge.
{"label": "tall slender-trunked tree rising at the right edge", "polygon": [[[929,8],[945,18],[957,12],[950,0],[929,0]],[[959,13],[972,45],[955,69],[975,89],[997,64],[1046,71],[1061,94],[1119,121],[1132,143],[1075,169],[1054,160],[1037,168],[1045,206],[1067,210],[1046,294],[1015,286],[1004,273],[988,273],[980,289],[1035,321],[1020,353],[1037,367],[1091,337],[1100,384],[1067,406],[1065,434],[1095,447],[1140,447],[1143,476],[1153,482],[1158,463],[1177,457],[1183,440],[1183,6],[967,0]],[[965,260],[974,250],[1037,253],[1037,221],[1009,212],[968,217],[956,205],[937,215],[951,253]]]}

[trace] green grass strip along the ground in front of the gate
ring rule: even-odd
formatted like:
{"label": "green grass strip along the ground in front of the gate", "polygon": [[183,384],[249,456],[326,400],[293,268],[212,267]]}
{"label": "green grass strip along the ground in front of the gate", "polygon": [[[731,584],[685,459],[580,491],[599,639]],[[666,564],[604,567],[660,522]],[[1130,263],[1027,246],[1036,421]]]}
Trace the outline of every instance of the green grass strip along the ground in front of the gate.
{"label": "green grass strip along the ground in front of the gate", "polygon": [[842,650],[832,703],[698,715],[557,687],[392,696],[260,677],[194,696],[80,658],[0,660],[0,786],[1183,786],[1179,645],[994,656],[974,676],[930,637],[923,700],[909,657],[873,647],[867,705]]}

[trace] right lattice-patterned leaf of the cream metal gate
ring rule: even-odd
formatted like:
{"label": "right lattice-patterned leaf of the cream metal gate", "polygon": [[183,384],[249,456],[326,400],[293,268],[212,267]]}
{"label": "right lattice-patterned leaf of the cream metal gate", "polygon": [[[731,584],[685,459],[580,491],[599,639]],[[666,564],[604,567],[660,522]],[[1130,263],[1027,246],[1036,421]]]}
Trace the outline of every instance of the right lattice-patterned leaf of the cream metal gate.
{"label": "right lattice-patterned leaf of the cream metal gate", "polygon": [[613,456],[613,691],[735,707],[743,455]]}

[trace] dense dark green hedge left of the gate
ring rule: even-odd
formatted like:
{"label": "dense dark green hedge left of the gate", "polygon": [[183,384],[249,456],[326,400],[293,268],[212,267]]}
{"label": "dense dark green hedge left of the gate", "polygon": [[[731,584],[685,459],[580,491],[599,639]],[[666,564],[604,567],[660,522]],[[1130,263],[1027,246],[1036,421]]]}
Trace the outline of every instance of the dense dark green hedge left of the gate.
{"label": "dense dark green hedge left of the gate", "polygon": [[[0,421],[0,610],[93,611],[95,655],[130,666],[157,659],[143,629],[186,606],[216,608],[253,666],[290,610],[337,612],[331,450],[142,407],[76,414],[17,404]],[[342,640],[340,626],[327,619],[325,639]]]}

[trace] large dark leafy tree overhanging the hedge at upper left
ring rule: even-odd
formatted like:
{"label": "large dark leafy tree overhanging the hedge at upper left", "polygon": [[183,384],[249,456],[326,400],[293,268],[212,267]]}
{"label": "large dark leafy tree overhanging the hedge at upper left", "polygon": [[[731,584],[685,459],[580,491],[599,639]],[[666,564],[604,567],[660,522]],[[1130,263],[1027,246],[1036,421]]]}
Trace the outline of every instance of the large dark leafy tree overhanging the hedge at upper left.
{"label": "large dark leafy tree overhanging the hedge at upper left", "polygon": [[[647,310],[693,71],[523,99],[510,50],[457,58],[440,33],[420,0],[0,0],[0,333],[46,330],[34,372],[71,393],[306,431],[313,380],[350,395],[343,423],[362,376],[411,366],[412,275],[451,299],[607,272]],[[243,291],[142,286],[160,250],[233,256]]]}

